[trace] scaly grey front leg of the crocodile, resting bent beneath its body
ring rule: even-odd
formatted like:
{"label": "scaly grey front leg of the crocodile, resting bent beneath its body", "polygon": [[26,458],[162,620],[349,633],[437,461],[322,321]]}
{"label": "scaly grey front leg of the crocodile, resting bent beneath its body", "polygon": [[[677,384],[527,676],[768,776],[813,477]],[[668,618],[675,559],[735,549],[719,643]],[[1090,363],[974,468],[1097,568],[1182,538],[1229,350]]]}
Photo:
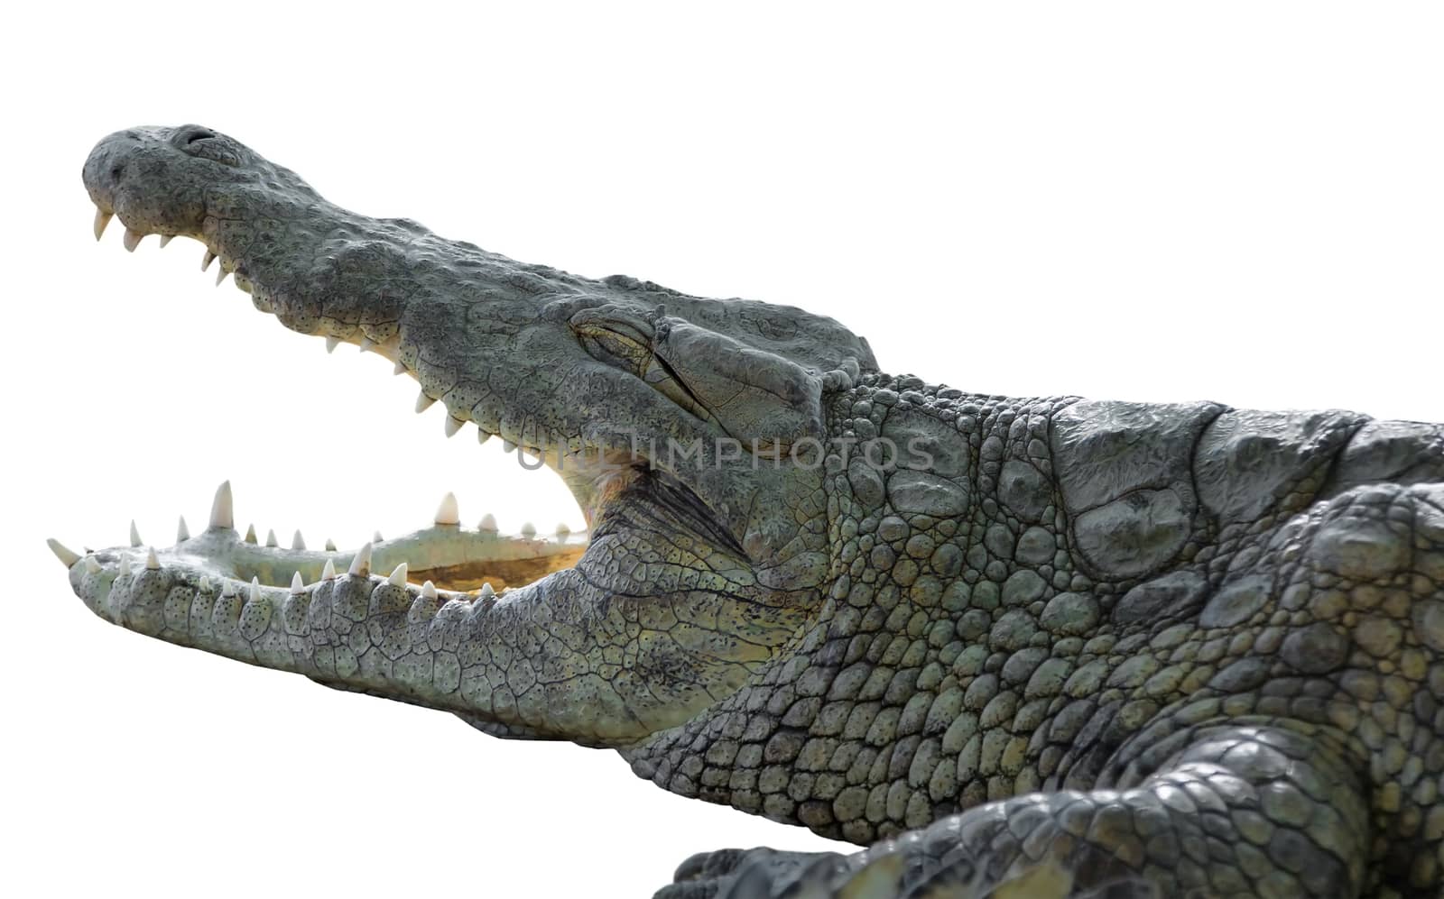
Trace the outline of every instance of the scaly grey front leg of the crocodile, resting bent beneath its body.
{"label": "scaly grey front leg of the crocodile, resting bent beneath its body", "polygon": [[1119,789],[988,802],[852,856],[722,850],[657,899],[1357,896],[1369,807],[1343,734],[1206,724]]}

